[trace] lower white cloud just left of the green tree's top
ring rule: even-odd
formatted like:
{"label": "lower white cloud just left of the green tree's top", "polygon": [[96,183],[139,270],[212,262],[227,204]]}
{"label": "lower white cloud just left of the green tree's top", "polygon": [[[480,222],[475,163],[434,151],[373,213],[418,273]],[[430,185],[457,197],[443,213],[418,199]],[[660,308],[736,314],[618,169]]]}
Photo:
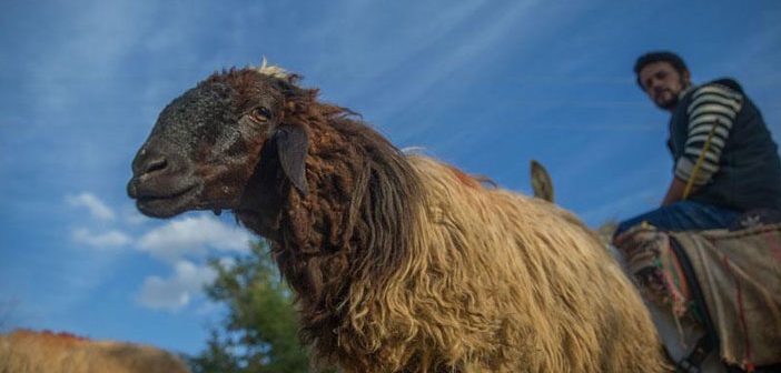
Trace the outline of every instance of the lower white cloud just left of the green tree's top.
{"label": "lower white cloud just left of the green tree's top", "polygon": [[144,280],[138,302],[149,309],[176,312],[187,306],[210,283],[217,273],[209,266],[198,266],[189,261],[178,261],[171,278],[152,275]]}

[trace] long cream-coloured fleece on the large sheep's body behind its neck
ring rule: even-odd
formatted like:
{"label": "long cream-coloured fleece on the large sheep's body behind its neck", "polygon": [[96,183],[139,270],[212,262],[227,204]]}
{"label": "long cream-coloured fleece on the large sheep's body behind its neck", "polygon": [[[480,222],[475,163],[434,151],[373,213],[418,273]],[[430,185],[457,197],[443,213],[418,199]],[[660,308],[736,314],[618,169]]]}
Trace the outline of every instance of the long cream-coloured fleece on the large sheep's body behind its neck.
{"label": "long cream-coloured fleece on the large sheep's body behind its neck", "polygon": [[661,370],[639,294],[577,218],[408,160],[425,198],[417,259],[399,281],[415,294],[408,326],[422,349],[493,371]]}

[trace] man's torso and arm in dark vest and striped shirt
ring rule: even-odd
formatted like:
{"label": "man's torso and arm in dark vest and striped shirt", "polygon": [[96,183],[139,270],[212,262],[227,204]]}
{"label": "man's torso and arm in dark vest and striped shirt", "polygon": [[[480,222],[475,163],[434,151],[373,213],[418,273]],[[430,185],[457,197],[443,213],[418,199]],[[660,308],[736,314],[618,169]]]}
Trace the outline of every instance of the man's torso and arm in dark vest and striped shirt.
{"label": "man's torso and arm in dark vest and striped shirt", "polygon": [[781,211],[778,145],[762,113],[733,79],[682,94],[670,118],[668,145],[675,178],[696,186],[689,200],[735,211]]}

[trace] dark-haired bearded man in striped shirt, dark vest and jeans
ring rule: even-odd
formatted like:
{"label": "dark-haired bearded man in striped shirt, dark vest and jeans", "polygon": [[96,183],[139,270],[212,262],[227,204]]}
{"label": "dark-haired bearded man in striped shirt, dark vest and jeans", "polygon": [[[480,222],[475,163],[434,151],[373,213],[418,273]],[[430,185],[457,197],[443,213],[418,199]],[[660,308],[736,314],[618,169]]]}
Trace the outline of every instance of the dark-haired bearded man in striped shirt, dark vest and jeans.
{"label": "dark-haired bearded man in striped shirt, dark vest and jeans", "polygon": [[637,84],[669,111],[673,179],[662,206],[619,224],[616,236],[643,221],[665,231],[728,228],[750,210],[781,210],[781,161],[761,113],[738,82],[692,87],[674,53],[640,57]]}

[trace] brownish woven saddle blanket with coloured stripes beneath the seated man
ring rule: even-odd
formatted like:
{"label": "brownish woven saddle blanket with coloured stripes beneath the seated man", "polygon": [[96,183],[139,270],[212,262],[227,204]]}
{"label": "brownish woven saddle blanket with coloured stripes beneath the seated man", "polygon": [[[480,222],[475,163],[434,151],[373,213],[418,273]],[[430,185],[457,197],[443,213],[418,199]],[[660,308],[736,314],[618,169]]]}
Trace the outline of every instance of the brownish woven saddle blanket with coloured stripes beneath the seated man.
{"label": "brownish woven saddle blanket with coloured stripes beneath the seated man", "polygon": [[[615,244],[646,301],[666,308],[682,324],[710,317],[724,362],[749,371],[781,362],[781,224],[698,232],[644,224]],[[695,279],[686,279],[673,244]],[[704,306],[692,296],[692,281]]]}

